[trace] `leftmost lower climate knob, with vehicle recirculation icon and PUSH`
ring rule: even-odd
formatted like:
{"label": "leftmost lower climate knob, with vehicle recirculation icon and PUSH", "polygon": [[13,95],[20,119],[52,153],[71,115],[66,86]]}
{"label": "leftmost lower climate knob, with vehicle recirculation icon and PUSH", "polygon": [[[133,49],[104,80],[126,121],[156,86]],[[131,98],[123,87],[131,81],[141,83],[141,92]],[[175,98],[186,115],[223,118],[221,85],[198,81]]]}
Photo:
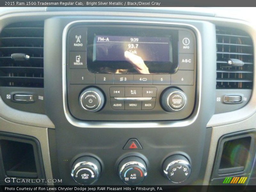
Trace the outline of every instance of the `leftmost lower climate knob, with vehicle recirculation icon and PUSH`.
{"label": "leftmost lower climate knob, with vehicle recirculation icon and PUSH", "polygon": [[71,176],[80,185],[91,185],[100,177],[100,162],[91,156],[78,158],[72,166]]}

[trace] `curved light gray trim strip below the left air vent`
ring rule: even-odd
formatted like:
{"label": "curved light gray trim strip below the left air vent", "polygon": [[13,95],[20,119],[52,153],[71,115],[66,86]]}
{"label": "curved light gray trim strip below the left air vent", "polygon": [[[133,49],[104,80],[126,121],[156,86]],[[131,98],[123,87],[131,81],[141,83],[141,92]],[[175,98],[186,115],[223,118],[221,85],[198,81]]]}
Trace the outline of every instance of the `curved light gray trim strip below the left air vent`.
{"label": "curved light gray trim strip below the left air vent", "polygon": [[[0,96],[0,117],[11,121],[13,123],[19,123],[24,125],[31,125],[36,127],[45,127],[54,129],[55,126],[48,116],[37,113],[30,113],[20,111],[9,107],[5,104]],[[5,131],[9,131],[6,129]]]}

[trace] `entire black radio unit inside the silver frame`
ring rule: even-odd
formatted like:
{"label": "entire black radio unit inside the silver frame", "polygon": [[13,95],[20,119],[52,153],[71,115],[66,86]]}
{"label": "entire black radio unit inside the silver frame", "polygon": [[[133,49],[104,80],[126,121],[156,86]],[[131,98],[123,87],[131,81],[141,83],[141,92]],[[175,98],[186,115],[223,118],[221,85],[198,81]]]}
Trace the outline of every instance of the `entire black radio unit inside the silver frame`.
{"label": "entire black radio unit inside the silver frame", "polygon": [[196,95],[196,36],[182,26],[71,25],[67,100],[80,120],[180,120]]}

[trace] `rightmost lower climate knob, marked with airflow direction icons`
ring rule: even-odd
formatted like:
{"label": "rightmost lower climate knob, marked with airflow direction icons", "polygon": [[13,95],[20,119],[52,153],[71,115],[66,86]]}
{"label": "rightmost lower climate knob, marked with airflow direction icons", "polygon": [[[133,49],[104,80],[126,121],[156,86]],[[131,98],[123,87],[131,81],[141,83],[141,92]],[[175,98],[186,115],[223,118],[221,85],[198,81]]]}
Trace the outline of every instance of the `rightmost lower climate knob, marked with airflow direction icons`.
{"label": "rightmost lower climate knob, marked with airflow direction icons", "polygon": [[173,183],[181,183],[188,179],[191,166],[186,157],[173,155],[165,159],[163,164],[164,175]]}

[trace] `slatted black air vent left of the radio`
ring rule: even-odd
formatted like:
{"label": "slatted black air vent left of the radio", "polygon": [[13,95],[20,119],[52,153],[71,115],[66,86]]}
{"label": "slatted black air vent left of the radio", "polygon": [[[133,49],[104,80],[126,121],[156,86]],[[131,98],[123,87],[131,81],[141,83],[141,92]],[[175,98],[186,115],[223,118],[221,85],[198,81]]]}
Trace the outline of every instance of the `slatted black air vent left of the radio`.
{"label": "slatted black air vent left of the radio", "polygon": [[3,28],[0,86],[44,87],[44,22],[20,22]]}

